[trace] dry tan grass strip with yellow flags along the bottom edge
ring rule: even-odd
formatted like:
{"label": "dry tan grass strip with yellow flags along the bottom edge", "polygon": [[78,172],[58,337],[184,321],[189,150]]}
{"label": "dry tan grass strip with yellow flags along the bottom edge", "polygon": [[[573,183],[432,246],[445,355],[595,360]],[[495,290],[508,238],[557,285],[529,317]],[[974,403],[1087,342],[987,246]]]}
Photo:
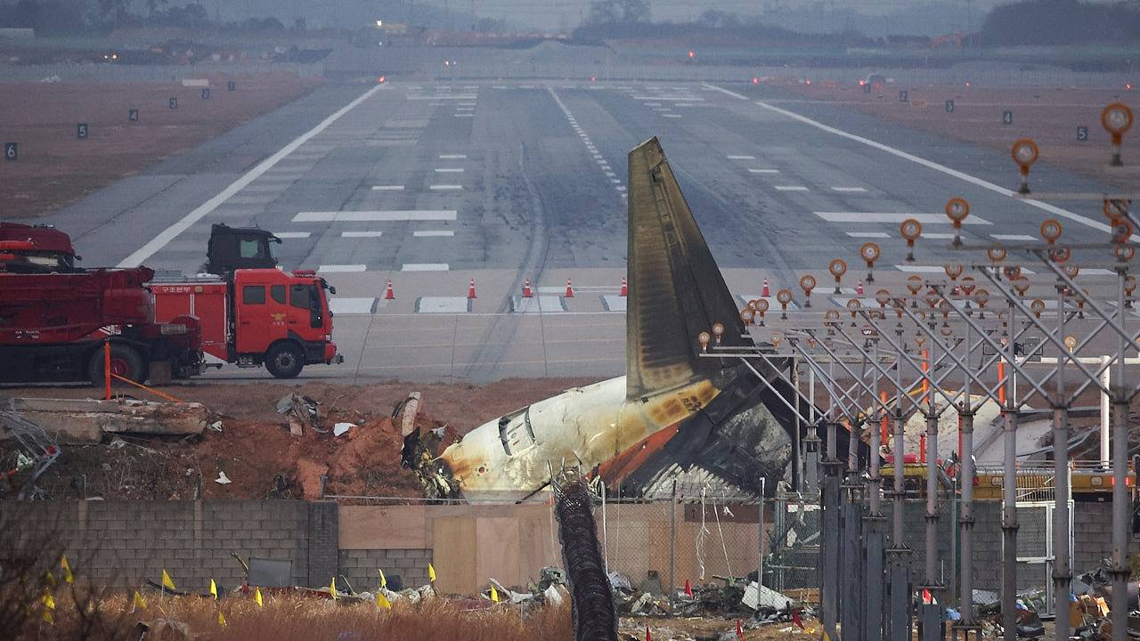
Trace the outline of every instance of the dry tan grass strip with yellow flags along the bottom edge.
{"label": "dry tan grass strip with yellow flags along the bottom edge", "polygon": [[[570,607],[540,608],[527,615],[506,605],[491,609],[467,609],[469,603],[431,599],[418,605],[398,602],[391,610],[374,603],[343,603],[299,597],[264,595],[259,608],[252,597],[236,595],[213,601],[202,598],[146,595],[147,609],[132,611],[131,599],[122,595],[100,600],[95,608],[115,627],[84,635],[80,612],[70,595],[56,599],[55,625],[39,618],[24,628],[22,639],[138,639],[131,630],[138,622],[165,619],[188,626],[193,639],[223,641],[569,641],[573,638]],[[218,612],[226,625],[218,622]],[[168,628],[161,636],[144,639],[181,640]]]}

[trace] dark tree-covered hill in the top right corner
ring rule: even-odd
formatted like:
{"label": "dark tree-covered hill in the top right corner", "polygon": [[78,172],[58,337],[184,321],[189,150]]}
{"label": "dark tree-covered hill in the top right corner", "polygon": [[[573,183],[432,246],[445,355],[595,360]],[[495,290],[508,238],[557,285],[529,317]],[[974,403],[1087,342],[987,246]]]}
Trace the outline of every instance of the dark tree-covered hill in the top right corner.
{"label": "dark tree-covered hill in the top right corner", "polygon": [[1021,0],[995,7],[979,35],[992,47],[1140,42],[1140,3]]}

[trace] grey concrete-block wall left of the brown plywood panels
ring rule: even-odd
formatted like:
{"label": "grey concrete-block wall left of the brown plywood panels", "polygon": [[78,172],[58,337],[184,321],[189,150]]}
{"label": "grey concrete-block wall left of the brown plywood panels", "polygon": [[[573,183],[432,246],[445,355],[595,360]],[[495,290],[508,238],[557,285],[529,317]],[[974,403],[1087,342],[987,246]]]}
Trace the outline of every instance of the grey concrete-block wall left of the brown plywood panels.
{"label": "grey concrete-block wall left of the brown plywood panels", "polygon": [[[58,537],[76,573],[114,587],[158,581],[179,589],[210,579],[235,586],[230,557],[293,561],[298,585],[327,585],[336,571],[336,505],[300,501],[60,501],[0,503],[25,542]],[[2,545],[3,542],[0,542]]]}

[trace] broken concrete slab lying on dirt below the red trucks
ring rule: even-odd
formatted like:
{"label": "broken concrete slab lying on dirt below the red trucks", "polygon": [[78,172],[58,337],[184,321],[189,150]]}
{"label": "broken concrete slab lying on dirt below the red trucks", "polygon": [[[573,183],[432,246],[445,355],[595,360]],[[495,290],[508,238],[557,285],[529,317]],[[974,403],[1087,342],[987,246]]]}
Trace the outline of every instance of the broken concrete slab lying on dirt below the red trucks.
{"label": "broken concrete slab lying on dirt below the red trucks", "polygon": [[11,409],[72,445],[97,444],[108,433],[201,435],[207,419],[201,403],[13,398]]}

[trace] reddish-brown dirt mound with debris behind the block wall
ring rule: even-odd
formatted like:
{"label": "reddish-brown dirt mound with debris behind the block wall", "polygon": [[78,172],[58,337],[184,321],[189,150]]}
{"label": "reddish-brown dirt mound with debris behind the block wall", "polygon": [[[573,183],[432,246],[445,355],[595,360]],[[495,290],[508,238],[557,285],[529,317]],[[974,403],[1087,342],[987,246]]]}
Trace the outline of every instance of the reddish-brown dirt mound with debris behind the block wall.
{"label": "reddish-brown dirt mound with debris behind the block wall", "polygon": [[[65,447],[38,485],[41,497],[57,500],[311,500],[320,496],[324,476],[326,495],[417,497],[423,496],[418,477],[400,466],[402,415],[392,419],[409,392],[423,396],[416,427],[437,429],[447,444],[506,412],[588,382],[593,381],[536,379],[489,386],[258,382],[164,388],[178,398],[206,405],[217,428],[198,437],[116,437],[101,445]],[[90,388],[9,389],[3,393],[97,395]],[[276,408],[290,393],[318,404],[316,428],[302,425],[300,435],[291,431],[290,417]],[[336,436],[336,423],[352,427]],[[0,444],[0,461],[14,454],[9,445]],[[225,479],[229,482],[217,482]],[[18,484],[0,487],[0,498],[13,498],[18,492]]]}

